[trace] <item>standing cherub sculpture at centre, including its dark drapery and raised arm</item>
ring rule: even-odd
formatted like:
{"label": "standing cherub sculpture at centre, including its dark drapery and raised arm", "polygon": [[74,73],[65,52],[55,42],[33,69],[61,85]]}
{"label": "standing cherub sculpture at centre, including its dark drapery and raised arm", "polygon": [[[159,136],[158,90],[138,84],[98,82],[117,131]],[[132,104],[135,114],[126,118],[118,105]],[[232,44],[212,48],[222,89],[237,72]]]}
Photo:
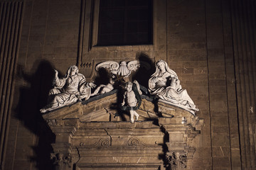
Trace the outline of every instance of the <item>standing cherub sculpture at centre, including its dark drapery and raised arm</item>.
{"label": "standing cherub sculpture at centre, including its dark drapery and raised arm", "polygon": [[[134,81],[134,84],[131,81],[128,81],[127,84],[125,84],[125,89],[126,91],[124,92],[124,100],[122,102],[122,106],[124,106],[124,104],[126,104],[127,106],[124,106],[123,110],[129,111],[130,122],[134,123],[134,115],[136,117],[136,120],[138,120],[139,118],[139,114],[136,112],[136,110],[137,108],[139,108],[139,105],[141,103],[141,98],[139,94],[142,94],[142,92],[139,90],[139,83],[136,80]],[[139,105],[137,105],[137,103],[139,103]]]}

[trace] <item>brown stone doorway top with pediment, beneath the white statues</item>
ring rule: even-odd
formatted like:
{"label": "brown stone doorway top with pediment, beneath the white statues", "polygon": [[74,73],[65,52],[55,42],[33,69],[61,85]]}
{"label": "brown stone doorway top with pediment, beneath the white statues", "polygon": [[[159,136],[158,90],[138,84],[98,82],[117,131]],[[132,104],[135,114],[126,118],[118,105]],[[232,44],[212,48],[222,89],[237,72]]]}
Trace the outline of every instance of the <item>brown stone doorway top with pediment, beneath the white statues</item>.
{"label": "brown stone doorway top with pediment, beneath the white statues", "polygon": [[139,120],[120,114],[117,90],[43,114],[56,135],[56,169],[184,169],[203,120],[142,95]]}

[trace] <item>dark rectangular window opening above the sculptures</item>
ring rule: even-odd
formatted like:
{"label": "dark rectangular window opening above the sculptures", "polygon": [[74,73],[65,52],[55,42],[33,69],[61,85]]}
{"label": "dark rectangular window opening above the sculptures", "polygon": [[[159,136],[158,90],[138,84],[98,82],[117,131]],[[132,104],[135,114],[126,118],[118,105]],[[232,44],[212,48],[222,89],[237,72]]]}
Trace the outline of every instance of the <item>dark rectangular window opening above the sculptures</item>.
{"label": "dark rectangular window opening above the sculptures", "polygon": [[152,44],[152,0],[100,0],[97,45]]}

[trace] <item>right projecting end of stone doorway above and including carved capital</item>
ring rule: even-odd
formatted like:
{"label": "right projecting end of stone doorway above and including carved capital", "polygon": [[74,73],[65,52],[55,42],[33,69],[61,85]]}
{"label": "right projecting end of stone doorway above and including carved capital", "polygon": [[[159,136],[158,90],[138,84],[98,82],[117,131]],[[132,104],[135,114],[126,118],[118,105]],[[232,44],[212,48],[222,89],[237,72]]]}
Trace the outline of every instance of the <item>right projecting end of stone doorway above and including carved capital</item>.
{"label": "right projecting end of stone doorway above and including carved capital", "polygon": [[159,111],[164,118],[159,118],[166,135],[166,169],[186,169],[192,164],[195,148],[189,143],[203,128],[203,120],[196,115],[179,108],[170,108],[166,103],[159,103]]}

